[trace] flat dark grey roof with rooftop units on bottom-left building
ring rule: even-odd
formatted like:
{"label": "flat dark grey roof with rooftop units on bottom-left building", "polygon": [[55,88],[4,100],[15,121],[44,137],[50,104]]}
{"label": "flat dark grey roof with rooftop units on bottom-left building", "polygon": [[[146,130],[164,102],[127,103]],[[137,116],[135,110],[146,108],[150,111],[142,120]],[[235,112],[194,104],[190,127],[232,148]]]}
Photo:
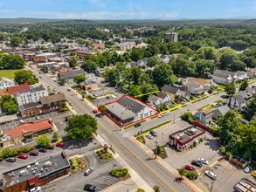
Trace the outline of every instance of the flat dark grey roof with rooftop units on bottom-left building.
{"label": "flat dark grey roof with rooftop units on bottom-left building", "polygon": [[38,181],[68,168],[70,164],[64,152],[50,155],[27,166],[3,173],[3,189],[19,182],[30,182],[32,179]]}

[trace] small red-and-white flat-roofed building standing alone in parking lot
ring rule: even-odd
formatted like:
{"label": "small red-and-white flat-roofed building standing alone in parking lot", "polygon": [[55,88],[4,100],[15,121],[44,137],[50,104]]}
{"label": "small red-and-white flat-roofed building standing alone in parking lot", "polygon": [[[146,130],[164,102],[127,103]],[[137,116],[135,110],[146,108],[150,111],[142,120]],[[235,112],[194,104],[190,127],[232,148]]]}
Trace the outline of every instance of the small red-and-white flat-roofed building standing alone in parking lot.
{"label": "small red-and-white flat-roofed building standing alone in parking lot", "polygon": [[178,151],[184,151],[190,147],[190,145],[193,145],[194,141],[198,141],[200,138],[204,138],[204,136],[205,130],[197,126],[191,126],[177,131],[174,134],[170,134],[169,143]]}

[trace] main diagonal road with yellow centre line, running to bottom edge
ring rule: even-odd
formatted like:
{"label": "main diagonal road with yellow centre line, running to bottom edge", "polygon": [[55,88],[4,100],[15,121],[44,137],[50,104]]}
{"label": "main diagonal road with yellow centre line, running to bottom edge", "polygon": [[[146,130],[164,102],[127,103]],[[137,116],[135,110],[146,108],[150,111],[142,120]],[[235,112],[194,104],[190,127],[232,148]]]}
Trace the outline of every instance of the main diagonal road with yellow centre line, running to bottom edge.
{"label": "main diagonal road with yellow centre line, running to bottom edge", "polygon": [[[38,76],[36,70],[32,71]],[[77,113],[92,113],[92,108],[84,101],[81,101],[75,94],[67,92],[66,86],[59,86],[50,79],[47,75],[41,74],[41,81],[45,86],[56,88],[60,93],[66,93],[66,99],[73,103],[73,108]],[[141,147],[135,144],[126,137],[122,137],[122,133],[117,131],[112,123],[106,117],[98,119],[98,134],[108,143],[112,145],[114,150],[149,183],[151,187],[154,185],[160,186],[162,191],[191,191],[185,184],[177,183],[176,177],[170,173],[170,170],[164,168],[157,161],[146,161],[149,159],[149,154],[146,154]]]}

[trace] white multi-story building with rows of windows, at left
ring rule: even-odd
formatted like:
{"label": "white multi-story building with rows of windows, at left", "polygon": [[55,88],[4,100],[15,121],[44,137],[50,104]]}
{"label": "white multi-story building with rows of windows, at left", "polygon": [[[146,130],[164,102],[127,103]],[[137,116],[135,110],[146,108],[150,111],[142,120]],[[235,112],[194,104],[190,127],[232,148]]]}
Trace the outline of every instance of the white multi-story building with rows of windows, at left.
{"label": "white multi-story building with rows of windows, at left", "polygon": [[49,93],[43,86],[38,86],[27,91],[18,92],[14,94],[14,99],[17,102],[17,106],[21,106],[29,103],[37,103],[41,97],[48,96]]}

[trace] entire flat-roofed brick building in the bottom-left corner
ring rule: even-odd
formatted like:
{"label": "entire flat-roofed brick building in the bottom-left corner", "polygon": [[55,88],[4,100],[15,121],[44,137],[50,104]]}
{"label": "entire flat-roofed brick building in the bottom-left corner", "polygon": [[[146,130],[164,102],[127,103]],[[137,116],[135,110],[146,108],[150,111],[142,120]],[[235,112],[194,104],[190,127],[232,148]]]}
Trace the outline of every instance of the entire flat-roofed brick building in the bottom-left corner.
{"label": "entire flat-roofed brick building in the bottom-left corner", "polygon": [[50,155],[27,166],[3,173],[2,191],[28,191],[70,172],[71,166],[65,152]]}

